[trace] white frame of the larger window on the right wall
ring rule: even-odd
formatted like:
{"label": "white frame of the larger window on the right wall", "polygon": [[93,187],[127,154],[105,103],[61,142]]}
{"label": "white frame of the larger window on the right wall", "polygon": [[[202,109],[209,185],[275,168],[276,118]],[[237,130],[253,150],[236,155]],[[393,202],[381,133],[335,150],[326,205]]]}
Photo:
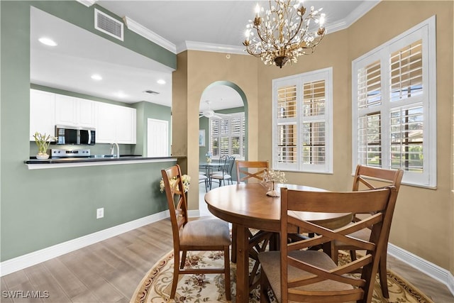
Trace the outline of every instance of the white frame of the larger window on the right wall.
{"label": "white frame of the larger window on the right wall", "polygon": [[[409,184],[416,187],[436,188],[437,185],[437,131],[436,131],[436,16],[428,18],[426,21],[410,28],[408,31],[389,40],[387,43],[371,50],[370,52],[358,57],[352,62],[352,173],[355,172],[358,164],[358,103],[357,103],[357,84],[358,84],[358,68],[367,65],[368,62],[380,60],[382,63],[389,60],[389,54],[394,50],[404,47],[404,40],[411,39],[411,36],[416,35],[423,40],[423,85],[424,100],[424,126],[423,126],[423,173],[404,172],[402,178],[403,184]],[[417,39],[415,39],[417,40]],[[391,108],[401,107],[406,105],[406,101],[399,102],[398,106],[394,106],[388,101],[389,98],[389,65],[382,65],[382,96],[387,96],[382,105],[383,114],[389,114]],[[373,111],[373,110],[372,110]],[[389,131],[382,133],[382,142],[386,142],[384,146],[389,147]],[[382,145],[383,146],[383,145]],[[383,151],[386,153],[386,150]],[[389,157],[386,155],[386,157]],[[426,161],[426,159],[428,159]],[[384,167],[387,168],[387,167]]]}

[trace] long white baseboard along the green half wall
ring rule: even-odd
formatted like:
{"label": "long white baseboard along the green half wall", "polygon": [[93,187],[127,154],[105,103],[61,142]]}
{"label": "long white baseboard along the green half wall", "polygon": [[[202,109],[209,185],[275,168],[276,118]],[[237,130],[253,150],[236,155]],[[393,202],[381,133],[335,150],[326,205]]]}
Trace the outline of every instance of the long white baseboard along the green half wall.
{"label": "long white baseboard along the green half wall", "polygon": [[32,265],[56,258],[59,255],[64,255],[65,253],[70,253],[73,250],[83,248],[85,246],[92,245],[99,241],[104,241],[108,238],[118,236],[121,233],[126,233],[126,231],[132,231],[135,228],[140,226],[145,226],[162,219],[168,218],[169,211],[161,211],[157,214],[152,214],[150,216],[145,216],[143,218],[127,222],[125,224],[120,224],[111,228],[106,228],[102,231],[96,231],[96,233],[91,233],[87,236],[82,236],[80,238],[75,238],[70,241],[66,241],[55,246],[50,246],[48,248],[43,248],[41,250],[36,250],[33,253],[28,253],[26,255],[21,255],[16,258],[12,258],[0,263],[0,277],[8,275],[11,272],[16,272],[18,270],[23,270]]}

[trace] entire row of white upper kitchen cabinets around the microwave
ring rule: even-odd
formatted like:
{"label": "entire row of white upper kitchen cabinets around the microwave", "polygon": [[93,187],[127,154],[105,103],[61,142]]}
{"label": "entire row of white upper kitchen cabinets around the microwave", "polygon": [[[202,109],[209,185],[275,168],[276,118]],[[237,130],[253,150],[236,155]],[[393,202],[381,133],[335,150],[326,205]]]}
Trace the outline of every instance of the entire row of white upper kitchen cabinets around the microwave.
{"label": "entire row of white upper kitchen cabinets around the microwave", "polygon": [[55,125],[96,129],[96,143],[136,143],[136,111],[126,106],[30,91],[30,140],[33,134],[55,136]]}

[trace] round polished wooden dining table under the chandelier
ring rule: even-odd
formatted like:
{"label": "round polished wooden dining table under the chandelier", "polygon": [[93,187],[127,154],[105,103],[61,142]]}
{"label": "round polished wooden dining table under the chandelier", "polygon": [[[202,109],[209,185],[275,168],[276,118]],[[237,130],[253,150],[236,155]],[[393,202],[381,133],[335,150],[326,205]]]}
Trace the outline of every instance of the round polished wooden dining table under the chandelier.
{"label": "round polished wooden dining table under the chandelier", "polygon": [[[325,189],[294,184],[277,184],[288,189],[323,192]],[[249,229],[279,233],[280,197],[267,196],[260,183],[233,184],[217,187],[205,194],[211,214],[237,226],[236,236],[236,302],[249,302]],[[352,214],[294,211],[294,216],[327,228],[349,224]],[[295,233],[298,231],[295,230]]]}

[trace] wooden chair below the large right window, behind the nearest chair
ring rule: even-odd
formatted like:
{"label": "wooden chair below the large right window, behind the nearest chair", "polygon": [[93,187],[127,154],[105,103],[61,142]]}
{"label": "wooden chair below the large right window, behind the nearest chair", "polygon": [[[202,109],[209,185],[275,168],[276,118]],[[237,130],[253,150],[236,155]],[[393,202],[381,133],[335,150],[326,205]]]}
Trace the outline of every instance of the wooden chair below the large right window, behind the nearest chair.
{"label": "wooden chair below the large right window, behind the nearest chair", "polygon": [[[353,179],[353,191],[377,189],[383,186],[392,185],[396,188],[396,194],[394,199],[397,199],[399,193],[400,184],[402,182],[402,176],[404,175],[403,170],[385,170],[377,167],[368,167],[364,165],[358,165],[356,167],[355,177]],[[394,204],[395,205],[395,202]],[[394,209],[390,209],[394,211]],[[367,216],[369,214],[355,214],[353,216],[353,223],[359,221],[359,216]],[[370,237],[370,228],[363,228],[360,231],[350,234],[350,236],[365,240]],[[389,231],[386,235],[386,241],[389,239]],[[338,262],[338,250],[350,250],[350,256],[352,260],[356,259],[355,246],[343,243],[342,241],[331,242],[331,258],[334,262]],[[380,275],[380,285],[382,287],[383,297],[389,298],[388,284],[387,284],[387,245],[384,246],[382,257],[380,260],[380,268],[378,270]]]}

